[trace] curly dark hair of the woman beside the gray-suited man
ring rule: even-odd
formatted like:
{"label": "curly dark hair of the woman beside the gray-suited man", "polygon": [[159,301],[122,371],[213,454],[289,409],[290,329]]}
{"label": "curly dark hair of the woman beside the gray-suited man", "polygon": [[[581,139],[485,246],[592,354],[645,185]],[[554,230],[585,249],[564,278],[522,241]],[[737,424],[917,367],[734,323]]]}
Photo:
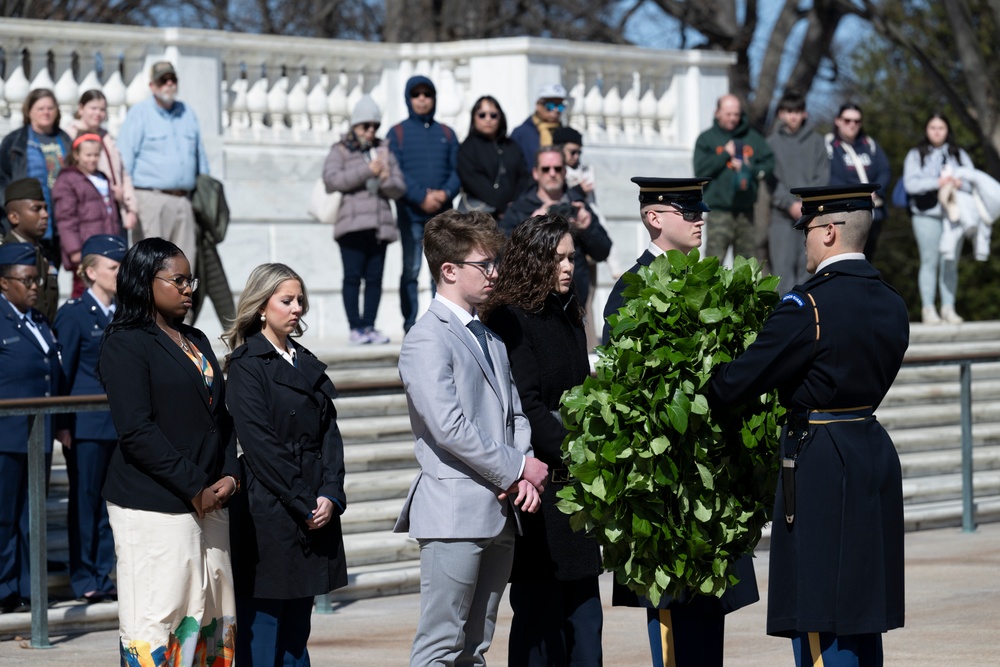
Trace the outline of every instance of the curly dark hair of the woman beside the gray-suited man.
{"label": "curly dark hair of the woman beside the gray-suited man", "polygon": [[[488,320],[493,309],[505,305],[527,313],[540,312],[552,293],[559,265],[556,248],[567,234],[573,234],[573,226],[561,215],[536,215],[518,225],[504,246],[493,293],[479,307],[480,318]],[[575,299],[566,313],[574,324],[583,321],[583,310]]]}

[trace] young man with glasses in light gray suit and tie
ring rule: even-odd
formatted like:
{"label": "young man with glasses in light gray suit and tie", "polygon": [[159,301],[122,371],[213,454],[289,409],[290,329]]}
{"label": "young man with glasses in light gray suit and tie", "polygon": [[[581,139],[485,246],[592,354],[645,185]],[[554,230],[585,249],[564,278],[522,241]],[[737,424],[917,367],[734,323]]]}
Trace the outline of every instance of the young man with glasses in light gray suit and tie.
{"label": "young man with glasses in light gray suit and tie", "polygon": [[413,667],[486,664],[518,512],[538,510],[548,476],[532,456],[503,342],[476,315],[503,242],[475,211],[447,211],[424,231],[437,296],[399,353],[420,463],[395,527],[420,542]]}

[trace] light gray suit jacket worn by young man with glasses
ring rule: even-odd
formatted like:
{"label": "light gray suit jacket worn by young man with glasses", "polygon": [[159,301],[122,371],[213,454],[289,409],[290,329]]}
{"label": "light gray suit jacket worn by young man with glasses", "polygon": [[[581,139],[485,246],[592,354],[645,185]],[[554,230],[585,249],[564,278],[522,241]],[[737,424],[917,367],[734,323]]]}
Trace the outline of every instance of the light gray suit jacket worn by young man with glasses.
{"label": "light gray suit jacket worn by young man with glasses", "polygon": [[490,338],[490,370],[475,338],[432,301],[399,353],[420,473],[394,531],[417,539],[496,537],[515,511],[497,495],[531,455],[531,429],[503,343]]}

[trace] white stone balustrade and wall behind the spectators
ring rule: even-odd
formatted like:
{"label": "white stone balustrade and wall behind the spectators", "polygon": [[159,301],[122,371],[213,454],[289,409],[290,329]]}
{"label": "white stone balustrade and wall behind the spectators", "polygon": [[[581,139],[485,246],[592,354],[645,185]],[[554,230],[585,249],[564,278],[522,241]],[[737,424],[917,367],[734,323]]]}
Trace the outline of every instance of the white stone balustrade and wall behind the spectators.
{"label": "white stone balustrade and wall behind the spectators", "polygon": [[[287,260],[303,273],[314,303],[329,301],[321,335],[346,331],[339,253],[329,228],[307,218],[306,202],[362,95],[381,107],[384,134],[406,117],[406,80],[427,75],[438,89],[436,118],[461,139],[480,95],[498,99],[510,130],[532,113],[534,91],[562,82],[565,120],[584,135],[615,257],[627,267],[645,246],[628,177],[691,175],[694,141],[728,90],[732,62],[714,52],[529,37],[386,44],[19,19],[0,20],[0,45],[0,135],[22,124],[23,101],[40,87],[55,93],[64,125],[81,93],[101,89],[114,134],[128,108],[149,95],[150,65],[173,62],[179,97],[198,115],[212,173],[226,185],[234,224],[221,251],[230,283],[242,285],[261,261],[286,261],[285,248],[322,245],[332,262],[300,251],[308,265]],[[382,325],[390,330],[397,276],[398,251],[390,252],[380,310],[380,320],[392,318]],[[605,287],[610,279],[602,271]]]}

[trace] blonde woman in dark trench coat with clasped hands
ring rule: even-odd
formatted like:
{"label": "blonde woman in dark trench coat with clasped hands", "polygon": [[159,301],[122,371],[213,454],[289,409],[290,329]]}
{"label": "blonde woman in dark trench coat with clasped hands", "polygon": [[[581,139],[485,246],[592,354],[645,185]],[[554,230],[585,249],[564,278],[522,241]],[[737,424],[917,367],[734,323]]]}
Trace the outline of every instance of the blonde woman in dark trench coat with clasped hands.
{"label": "blonde woman in dark trench coat with clasped hands", "polygon": [[347,585],[344,442],[326,364],[292,340],[309,310],[284,264],[250,274],[223,340],[245,493],[233,508],[236,660],[308,665],[313,596]]}

